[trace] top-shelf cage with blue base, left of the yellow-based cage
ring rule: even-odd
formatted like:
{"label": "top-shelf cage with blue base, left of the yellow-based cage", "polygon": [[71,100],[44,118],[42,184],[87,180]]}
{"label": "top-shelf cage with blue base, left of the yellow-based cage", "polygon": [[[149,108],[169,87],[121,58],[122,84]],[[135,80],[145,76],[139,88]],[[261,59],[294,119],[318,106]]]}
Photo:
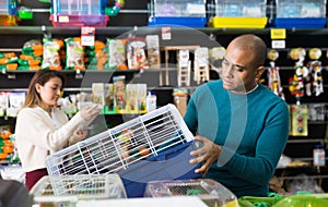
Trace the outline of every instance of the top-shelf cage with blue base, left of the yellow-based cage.
{"label": "top-shelf cage with blue base, left of the yellow-based cage", "polygon": [[203,27],[206,14],[206,0],[152,0],[149,26]]}

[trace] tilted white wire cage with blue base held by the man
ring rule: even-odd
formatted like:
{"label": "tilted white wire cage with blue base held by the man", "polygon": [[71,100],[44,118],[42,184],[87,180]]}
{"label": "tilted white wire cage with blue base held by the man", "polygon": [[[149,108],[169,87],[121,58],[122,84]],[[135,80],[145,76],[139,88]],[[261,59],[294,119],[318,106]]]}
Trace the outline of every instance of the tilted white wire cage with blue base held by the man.
{"label": "tilted white wire cage with blue base held by the man", "polygon": [[128,197],[143,195],[152,180],[192,179],[194,135],[174,105],[167,105],[47,157],[50,176],[120,174]]}

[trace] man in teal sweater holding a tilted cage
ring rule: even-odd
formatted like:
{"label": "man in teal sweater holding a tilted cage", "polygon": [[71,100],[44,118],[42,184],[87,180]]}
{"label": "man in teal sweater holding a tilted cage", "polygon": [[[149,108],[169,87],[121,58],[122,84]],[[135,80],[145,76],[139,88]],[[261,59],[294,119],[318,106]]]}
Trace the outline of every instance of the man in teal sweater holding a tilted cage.
{"label": "man in teal sweater holding a tilted cage", "polygon": [[255,35],[232,40],[221,80],[192,94],[184,117],[201,145],[191,151],[196,170],[236,196],[267,196],[269,181],[289,137],[286,104],[257,81],[265,71],[266,44]]}

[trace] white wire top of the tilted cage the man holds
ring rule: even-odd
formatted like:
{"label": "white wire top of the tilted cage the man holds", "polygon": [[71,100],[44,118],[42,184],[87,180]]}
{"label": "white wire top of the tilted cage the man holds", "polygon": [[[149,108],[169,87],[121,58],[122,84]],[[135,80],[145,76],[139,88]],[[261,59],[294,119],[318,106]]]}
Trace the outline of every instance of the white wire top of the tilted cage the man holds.
{"label": "white wire top of the tilted cage the man holds", "polygon": [[50,176],[116,173],[191,141],[178,110],[167,105],[57,151],[46,165]]}

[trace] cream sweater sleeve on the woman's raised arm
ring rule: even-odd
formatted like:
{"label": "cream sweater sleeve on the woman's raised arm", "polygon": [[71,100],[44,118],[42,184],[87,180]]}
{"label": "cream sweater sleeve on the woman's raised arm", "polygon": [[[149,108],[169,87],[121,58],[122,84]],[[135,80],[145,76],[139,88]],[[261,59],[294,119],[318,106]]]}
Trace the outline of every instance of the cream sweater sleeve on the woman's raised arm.
{"label": "cream sweater sleeve on the woman's raised arm", "polygon": [[15,134],[17,138],[24,138],[33,145],[47,150],[60,150],[68,145],[73,132],[83,122],[80,113],[77,113],[61,127],[56,129],[54,123],[36,110],[22,110],[16,119]]}

